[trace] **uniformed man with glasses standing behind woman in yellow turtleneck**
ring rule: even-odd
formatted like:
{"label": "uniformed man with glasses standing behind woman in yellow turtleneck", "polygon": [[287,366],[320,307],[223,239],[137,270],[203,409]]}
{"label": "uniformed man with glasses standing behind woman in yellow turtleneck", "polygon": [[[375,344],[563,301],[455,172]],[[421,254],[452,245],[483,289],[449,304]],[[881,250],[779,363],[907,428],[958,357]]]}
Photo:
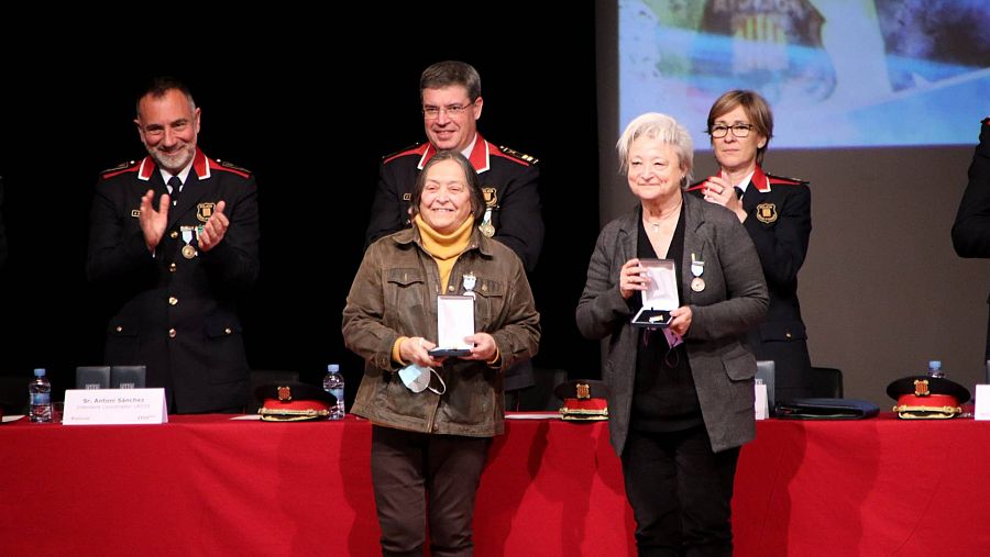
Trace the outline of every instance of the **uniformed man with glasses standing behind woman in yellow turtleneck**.
{"label": "uniformed man with glasses standing behind woman in yellow turtleneck", "polygon": [[[512,248],[531,272],[543,243],[543,219],[537,188],[537,160],[529,155],[488,143],[477,132],[484,100],[481,77],[463,62],[440,62],[419,80],[427,143],[382,160],[378,187],[372,204],[365,245],[410,226],[413,185],[437,151],[459,151],[477,170],[485,194],[485,213],[479,227],[488,237]],[[506,372],[506,408],[516,409],[518,391],[534,385],[527,360]]]}

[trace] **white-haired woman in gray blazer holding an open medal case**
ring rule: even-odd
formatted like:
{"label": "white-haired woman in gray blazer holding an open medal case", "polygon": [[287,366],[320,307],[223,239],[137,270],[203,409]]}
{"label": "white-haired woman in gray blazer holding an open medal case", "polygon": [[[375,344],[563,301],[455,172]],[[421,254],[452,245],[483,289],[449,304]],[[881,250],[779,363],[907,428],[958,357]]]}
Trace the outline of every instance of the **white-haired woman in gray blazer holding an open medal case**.
{"label": "white-haired woman in gray blazer holding an open medal case", "polygon": [[[736,461],[756,430],[756,359],[741,341],[767,312],[767,285],[739,221],[684,193],[682,125],[642,114],[617,148],[639,203],[600,234],[576,320],[585,337],[608,338],[608,428],[636,544],[639,555],[730,556]],[[675,285],[653,286],[676,292],[676,309],[667,328],[641,328],[632,320],[656,259],[673,261]]]}

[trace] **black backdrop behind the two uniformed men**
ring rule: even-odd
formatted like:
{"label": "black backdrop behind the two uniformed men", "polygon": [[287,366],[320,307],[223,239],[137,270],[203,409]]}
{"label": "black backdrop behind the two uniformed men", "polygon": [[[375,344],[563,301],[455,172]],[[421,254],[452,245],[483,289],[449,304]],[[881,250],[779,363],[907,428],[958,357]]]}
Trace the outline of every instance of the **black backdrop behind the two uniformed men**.
{"label": "black backdrop behind the two uniformed men", "polygon": [[[148,37],[131,25],[114,40],[46,36],[61,46],[43,59],[18,53],[51,45],[8,45],[0,375],[26,381],[46,367],[57,392],[77,365],[101,361],[110,313],[85,278],[92,187],[100,170],[144,155],[134,99],[148,77],[167,74],[184,78],[202,108],[204,151],[257,176],[262,274],[242,305],[251,366],[316,382],[338,361],[352,399],[361,361],[343,347],[341,310],[377,164],[424,140],[419,74],[452,58],[481,73],[482,133],[540,159],[547,237],[532,277],[543,324],[536,364],[597,376],[597,345],[573,319],[598,231],[594,7],[568,10],[446,8],[388,22],[372,9],[333,22],[280,14],[263,24],[186,22],[183,41],[168,26]],[[345,41],[345,29],[362,38]],[[370,53],[372,43],[391,54]]]}

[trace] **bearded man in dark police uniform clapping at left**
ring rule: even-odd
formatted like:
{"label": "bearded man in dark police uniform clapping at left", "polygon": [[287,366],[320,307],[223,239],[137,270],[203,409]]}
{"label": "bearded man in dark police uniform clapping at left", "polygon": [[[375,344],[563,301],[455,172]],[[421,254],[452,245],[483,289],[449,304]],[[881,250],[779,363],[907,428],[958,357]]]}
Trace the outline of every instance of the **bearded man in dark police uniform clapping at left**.
{"label": "bearded man in dark police uniform clapping at left", "polygon": [[105,171],[90,213],[89,280],[119,297],[107,364],[147,366],[172,412],[241,411],[234,301],[258,270],[254,178],[197,147],[200,109],[177,80],[156,79],[134,123],[148,156]]}

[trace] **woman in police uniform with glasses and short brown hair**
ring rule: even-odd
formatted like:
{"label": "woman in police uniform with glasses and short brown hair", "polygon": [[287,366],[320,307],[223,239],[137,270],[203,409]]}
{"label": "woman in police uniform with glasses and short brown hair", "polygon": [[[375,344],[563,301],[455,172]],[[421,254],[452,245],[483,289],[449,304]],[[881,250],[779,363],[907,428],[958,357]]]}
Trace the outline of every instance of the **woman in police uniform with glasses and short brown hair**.
{"label": "woman in police uniform with glasses and short brown hair", "polygon": [[763,171],[773,114],[758,93],[719,97],[708,111],[707,133],[722,168],[691,190],[736,214],[756,245],[770,289],[767,320],[748,335],[750,349],[757,359],[774,361],[777,400],[814,396],[798,303],[798,271],[811,236],[811,190],[803,180]]}

